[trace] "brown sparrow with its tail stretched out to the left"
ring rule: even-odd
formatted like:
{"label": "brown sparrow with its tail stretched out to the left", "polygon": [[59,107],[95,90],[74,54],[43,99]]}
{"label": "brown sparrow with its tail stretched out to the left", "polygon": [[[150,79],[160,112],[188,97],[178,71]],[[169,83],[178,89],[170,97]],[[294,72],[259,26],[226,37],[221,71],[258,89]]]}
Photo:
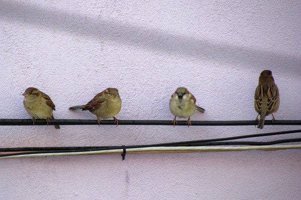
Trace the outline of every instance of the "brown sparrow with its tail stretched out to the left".
{"label": "brown sparrow with its tail stretched out to the left", "polygon": [[121,108],[121,98],[116,88],[106,88],[102,92],[96,94],[92,100],[85,105],[72,106],[69,109],[89,110],[97,116],[98,125],[100,125],[100,118],[107,119],[114,118],[118,125],[118,119],[115,117]]}

